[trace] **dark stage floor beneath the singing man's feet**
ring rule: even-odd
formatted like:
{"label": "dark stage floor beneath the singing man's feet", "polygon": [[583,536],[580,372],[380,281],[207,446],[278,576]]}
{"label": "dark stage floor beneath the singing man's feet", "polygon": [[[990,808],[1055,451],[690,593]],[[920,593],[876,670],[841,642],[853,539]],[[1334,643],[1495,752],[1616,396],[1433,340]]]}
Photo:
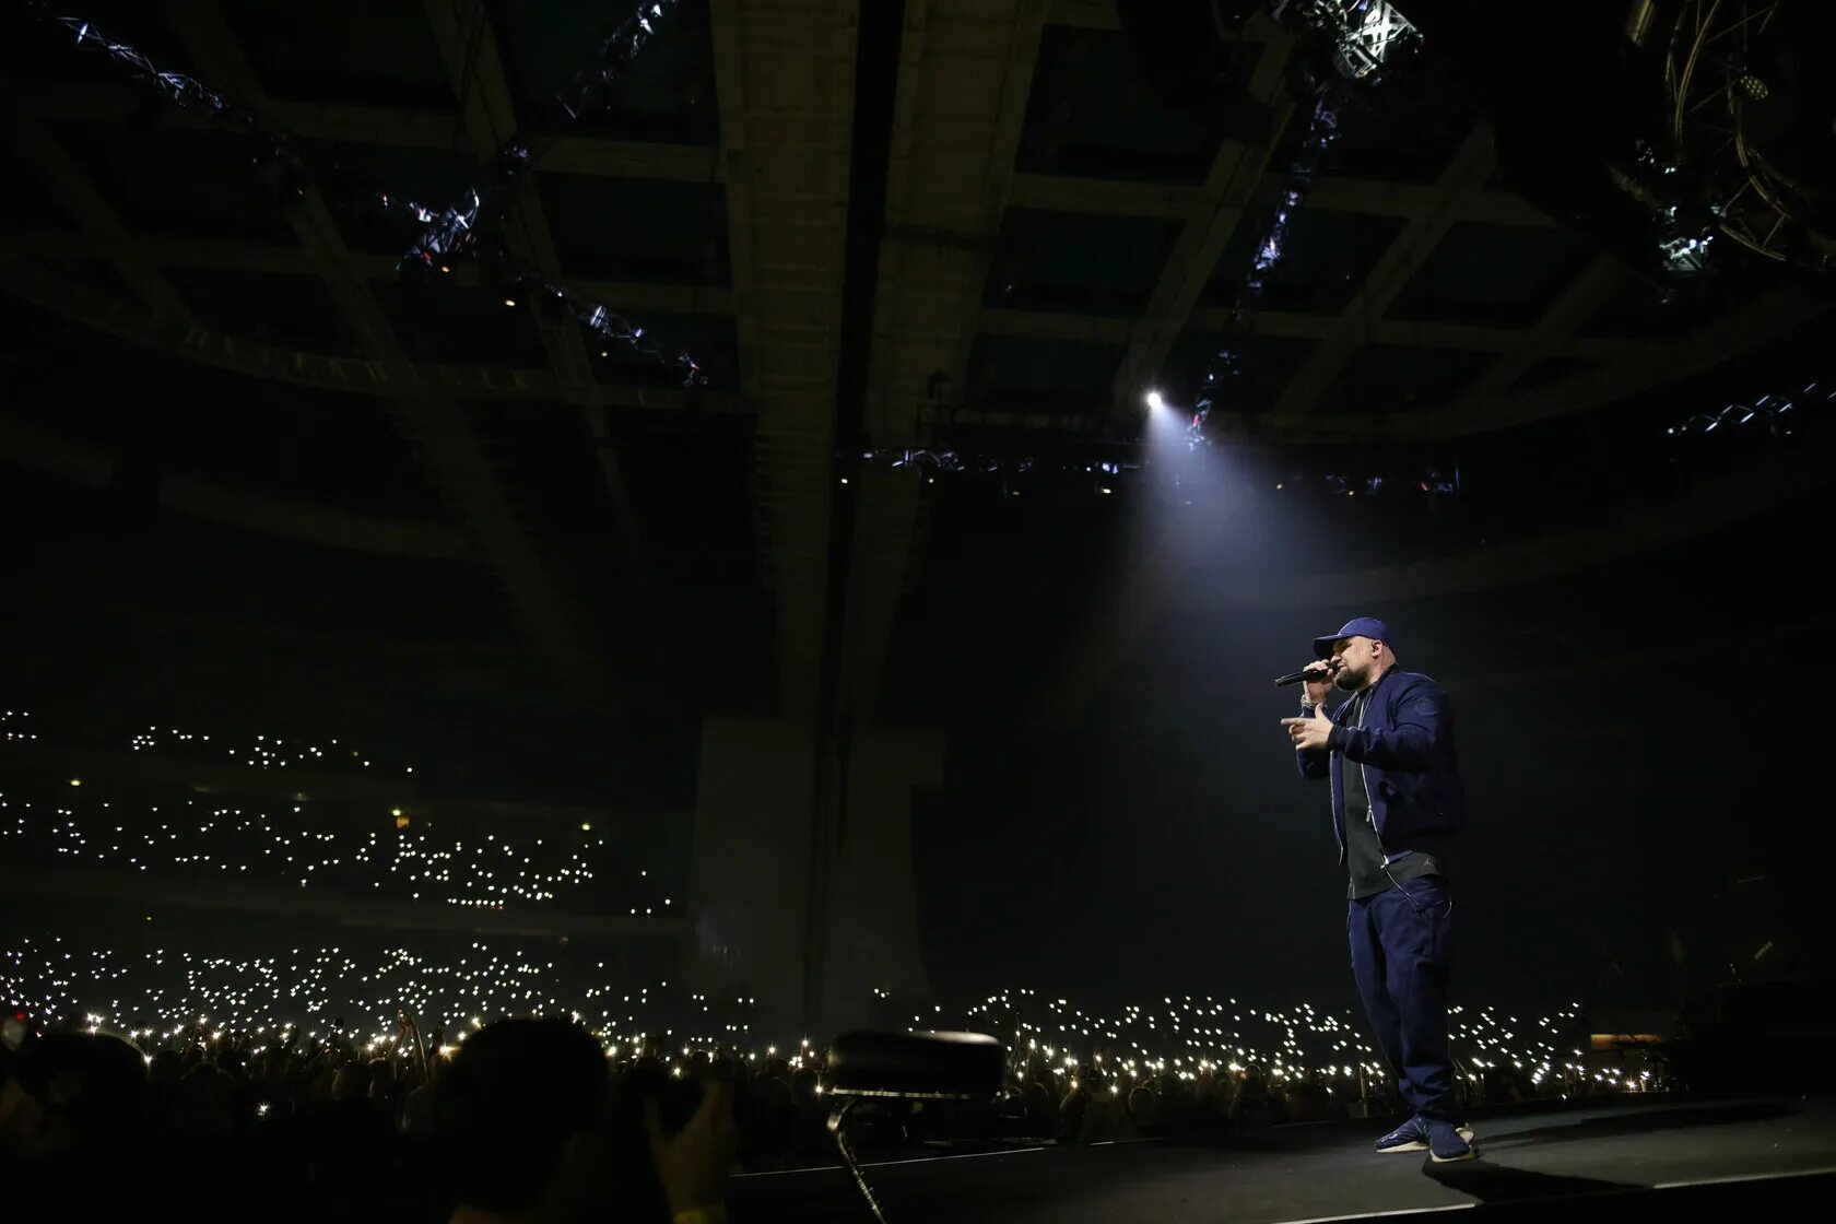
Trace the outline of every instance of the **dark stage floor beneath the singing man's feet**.
{"label": "dark stage floor beneath the singing man's feet", "polygon": [[[1629,1191],[1676,1191],[1663,1195],[1674,1200],[1704,1187],[1741,1204],[1781,1193],[1766,1178],[1823,1174],[1794,1178],[1792,1195],[1827,1195],[1836,1180],[1830,1099],[1621,1097],[1500,1112],[1472,1127],[1480,1158],[1447,1165],[1427,1152],[1373,1152],[1384,1130],[1373,1121],[889,1162],[868,1165],[867,1178],[889,1224],[1276,1224],[1539,1200],[1548,1209],[1550,1198],[1570,1198],[1573,1224],[1594,1207],[1632,1209]],[[734,1224],[872,1220],[841,1167],[734,1178],[731,1206]]]}

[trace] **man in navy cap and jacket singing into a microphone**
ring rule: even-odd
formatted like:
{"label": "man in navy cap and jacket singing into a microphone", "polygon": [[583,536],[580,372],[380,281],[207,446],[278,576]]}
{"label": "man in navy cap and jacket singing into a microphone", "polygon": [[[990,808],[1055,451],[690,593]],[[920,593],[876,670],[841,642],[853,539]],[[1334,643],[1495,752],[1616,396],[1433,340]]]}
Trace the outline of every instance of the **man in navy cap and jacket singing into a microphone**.
{"label": "man in navy cap and jacket singing into a microphone", "polygon": [[[1338,861],[1351,870],[1351,973],[1377,1044],[1416,1110],[1379,1152],[1471,1160],[1447,1057],[1454,897],[1447,850],[1465,822],[1447,694],[1395,662],[1390,626],[1359,617],[1315,639],[1300,718],[1283,718],[1305,778],[1329,778]],[[1326,695],[1351,699],[1327,714]]]}

